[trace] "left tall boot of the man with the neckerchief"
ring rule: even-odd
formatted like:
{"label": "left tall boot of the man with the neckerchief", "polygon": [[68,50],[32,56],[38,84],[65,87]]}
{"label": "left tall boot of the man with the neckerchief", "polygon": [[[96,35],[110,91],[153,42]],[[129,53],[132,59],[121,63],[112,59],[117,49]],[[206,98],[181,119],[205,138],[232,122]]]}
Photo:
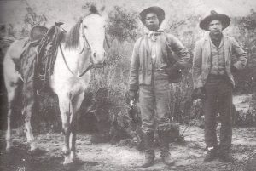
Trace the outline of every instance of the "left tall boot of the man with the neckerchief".
{"label": "left tall boot of the man with the neckerchief", "polygon": [[142,167],[148,168],[154,164],[154,132],[143,134],[145,145],[145,161]]}

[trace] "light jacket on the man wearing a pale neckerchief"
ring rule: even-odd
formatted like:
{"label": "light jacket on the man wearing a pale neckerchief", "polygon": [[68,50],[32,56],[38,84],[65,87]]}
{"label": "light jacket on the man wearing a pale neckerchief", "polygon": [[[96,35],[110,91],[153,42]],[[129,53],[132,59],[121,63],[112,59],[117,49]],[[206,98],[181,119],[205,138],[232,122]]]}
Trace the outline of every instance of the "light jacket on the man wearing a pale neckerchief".
{"label": "light jacket on the man wearing a pale neckerchief", "polygon": [[[131,56],[131,69],[130,69],[130,90],[138,90],[139,85],[150,85],[152,82],[152,70],[163,69],[168,66],[166,59],[174,58],[177,62],[172,67],[183,68],[188,66],[190,60],[190,54],[187,48],[174,37],[172,34],[163,32],[159,36],[161,43],[162,55],[158,56],[157,64],[159,68],[152,68],[152,58],[150,56],[150,50],[148,47],[148,36],[144,35],[137,39],[134,45]],[[167,47],[171,48],[177,55],[167,55]],[[171,60],[171,59],[170,59]],[[166,74],[166,79],[168,76]]]}

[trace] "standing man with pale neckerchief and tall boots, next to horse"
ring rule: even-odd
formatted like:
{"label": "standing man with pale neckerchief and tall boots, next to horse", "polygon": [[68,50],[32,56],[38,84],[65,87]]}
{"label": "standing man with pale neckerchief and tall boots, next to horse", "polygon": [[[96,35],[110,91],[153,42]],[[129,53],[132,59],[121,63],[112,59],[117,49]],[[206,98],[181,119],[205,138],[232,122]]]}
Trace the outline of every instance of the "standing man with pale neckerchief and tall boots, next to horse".
{"label": "standing man with pale neckerchief and tall boots, next to horse", "polygon": [[[144,9],[140,20],[148,28],[134,45],[131,56],[130,97],[137,99],[142,116],[145,162],[143,167],[154,164],[154,129],[158,131],[162,161],[172,164],[169,153],[169,132],[171,128],[169,110],[169,83],[181,75],[190,56],[187,48],[171,34],[160,30],[165,12],[159,7]],[[174,59],[174,55],[177,58]]]}

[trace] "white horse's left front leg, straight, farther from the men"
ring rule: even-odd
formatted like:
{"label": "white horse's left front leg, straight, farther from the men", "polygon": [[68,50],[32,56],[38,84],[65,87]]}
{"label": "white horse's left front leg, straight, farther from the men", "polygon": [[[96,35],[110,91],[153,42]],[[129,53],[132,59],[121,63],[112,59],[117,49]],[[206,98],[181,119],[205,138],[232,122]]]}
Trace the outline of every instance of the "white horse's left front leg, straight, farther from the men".
{"label": "white horse's left front leg, straight, farther from the men", "polygon": [[73,160],[70,158],[70,148],[69,148],[69,136],[70,136],[70,115],[71,115],[71,104],[68,96],[59,95],[59,105],[61,111],[61,121],[62,121],[62,133],[64,134],[64,162],[63,164],[72,163]]}

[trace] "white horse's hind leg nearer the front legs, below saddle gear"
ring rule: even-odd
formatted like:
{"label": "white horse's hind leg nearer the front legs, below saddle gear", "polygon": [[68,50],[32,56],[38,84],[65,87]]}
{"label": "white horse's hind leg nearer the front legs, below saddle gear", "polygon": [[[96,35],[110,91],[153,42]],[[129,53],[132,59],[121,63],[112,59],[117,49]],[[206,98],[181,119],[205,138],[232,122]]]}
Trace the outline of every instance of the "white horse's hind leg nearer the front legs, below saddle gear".
{"label": "white horse's hind leg nearer the front legs, below saddle gear", "polygon": [[36,151],[37,145],[35,143],[35,139],[34,139],[34,136],[32,133],[32,127],[31,127],[31,117],[32,117],[33,106],[35,103],[33,83],[28,83],[27,85],[24,85],[23,95],[24,95],[24,107],[23,107],[22,115],[25,117],[26,140],[30,145],[30,150]]}

